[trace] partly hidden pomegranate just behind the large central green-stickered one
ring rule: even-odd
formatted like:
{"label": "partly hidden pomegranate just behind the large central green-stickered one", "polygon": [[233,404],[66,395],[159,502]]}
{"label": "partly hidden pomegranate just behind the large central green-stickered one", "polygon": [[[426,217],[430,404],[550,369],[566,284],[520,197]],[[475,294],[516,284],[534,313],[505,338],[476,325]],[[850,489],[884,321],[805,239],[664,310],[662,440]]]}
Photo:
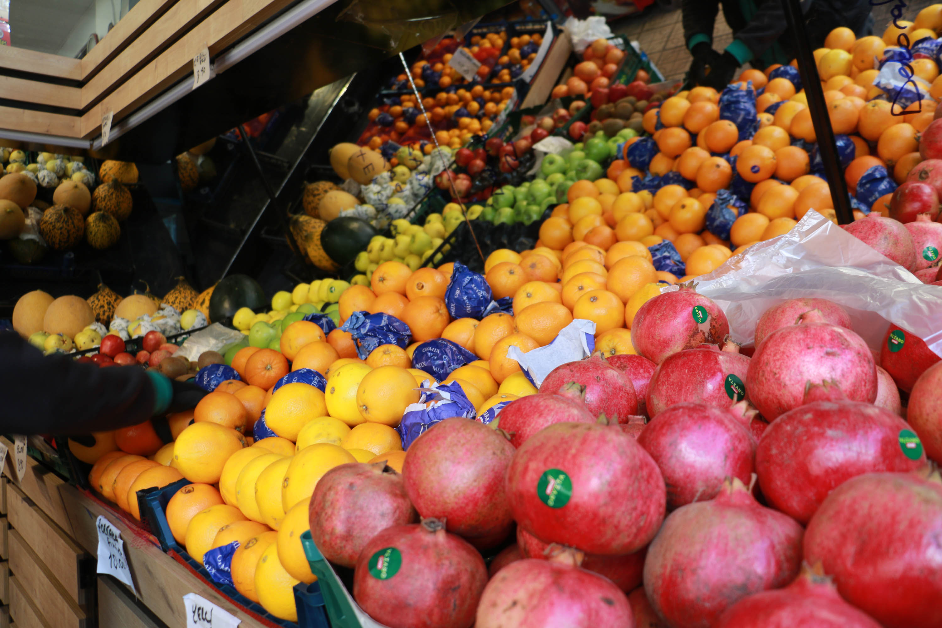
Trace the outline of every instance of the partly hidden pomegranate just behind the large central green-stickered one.
{"label": "partly hidden pomegranate just behind the large central green-stickered one", "polygon": [[504,406],[497,417],[501,429],[511,435],[511,444],[519,447],[527,439],[554,423],[595,423],[596,417],[574,395],[585,395],[585,386],[568,382],[562,395],[527,395]]}

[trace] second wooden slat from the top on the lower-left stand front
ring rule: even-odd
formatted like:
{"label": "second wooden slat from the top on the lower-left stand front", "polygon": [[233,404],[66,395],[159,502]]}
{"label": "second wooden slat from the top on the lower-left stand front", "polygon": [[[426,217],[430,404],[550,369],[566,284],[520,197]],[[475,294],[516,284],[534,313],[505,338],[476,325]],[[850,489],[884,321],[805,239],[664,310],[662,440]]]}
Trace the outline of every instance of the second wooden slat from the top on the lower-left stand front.
{"label": "second wooden slat from the top on the lower-left stand front", "polygon": [[[29,544],[76,604],[86,604],[82,563],[90,556],[22,491],[8,487],[9,524]],[[88,568],[88,566],[86,566]]]}

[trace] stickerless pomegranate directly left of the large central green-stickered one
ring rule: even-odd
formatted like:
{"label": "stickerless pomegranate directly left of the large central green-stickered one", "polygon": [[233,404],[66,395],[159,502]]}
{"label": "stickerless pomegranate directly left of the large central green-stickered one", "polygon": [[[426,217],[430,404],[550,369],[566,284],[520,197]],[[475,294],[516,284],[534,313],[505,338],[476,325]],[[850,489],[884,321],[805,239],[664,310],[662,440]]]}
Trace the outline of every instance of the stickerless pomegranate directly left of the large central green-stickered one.
{"label": "stickerless pomegranate directly left of the large central green-stickered one", "polygon": [[493,427],[445,419],[409,446],[402,484],[418,514],[441,520],[448,532],[475,538],[509,532],[504,476],[513,452]]}

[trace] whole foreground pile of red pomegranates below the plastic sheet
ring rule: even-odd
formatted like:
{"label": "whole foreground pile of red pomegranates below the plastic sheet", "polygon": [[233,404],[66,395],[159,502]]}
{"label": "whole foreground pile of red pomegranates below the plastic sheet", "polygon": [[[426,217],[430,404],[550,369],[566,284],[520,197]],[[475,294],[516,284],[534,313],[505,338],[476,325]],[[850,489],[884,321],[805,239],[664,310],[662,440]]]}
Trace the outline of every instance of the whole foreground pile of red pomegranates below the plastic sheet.
{"label": "whole foreground pile of red pomegranates below the plastic sheet", "polygon": [[328,472],[317,546],[390,628],[942,626],[942,361],[823,298],[729,333],[694,286],[649,299],[637,355]]}

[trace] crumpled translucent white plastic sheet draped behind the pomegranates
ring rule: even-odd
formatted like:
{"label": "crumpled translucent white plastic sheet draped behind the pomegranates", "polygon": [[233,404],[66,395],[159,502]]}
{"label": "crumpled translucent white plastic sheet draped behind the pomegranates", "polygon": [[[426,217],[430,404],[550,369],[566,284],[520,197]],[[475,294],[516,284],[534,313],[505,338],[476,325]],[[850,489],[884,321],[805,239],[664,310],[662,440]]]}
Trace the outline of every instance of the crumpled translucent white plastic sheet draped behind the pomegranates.
{"label": "crumpled translucent white plastic sheet draped behind the pomegranates", "polygon": [[893,323],[942,356],[942,286],[919,282],[814,210],[790,232],[753,245],[695,282],[698,293],[723,308],[733,340],[744,346],[753,344],[755,323],[766,310],[789,298],[817,297],[842,305],[871,349],[880,349]]}

